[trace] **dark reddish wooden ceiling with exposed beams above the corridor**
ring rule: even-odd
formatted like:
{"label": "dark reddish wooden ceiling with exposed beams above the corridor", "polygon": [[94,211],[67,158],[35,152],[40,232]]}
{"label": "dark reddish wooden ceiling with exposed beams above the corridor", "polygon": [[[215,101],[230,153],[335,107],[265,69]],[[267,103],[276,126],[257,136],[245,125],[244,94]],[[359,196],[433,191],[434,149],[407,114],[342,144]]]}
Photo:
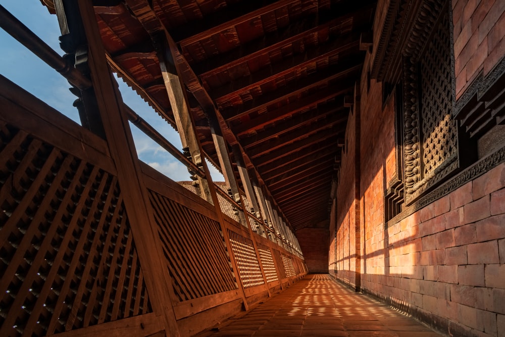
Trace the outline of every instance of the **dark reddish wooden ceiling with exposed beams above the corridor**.
{"label": "dark reddish wooden ceiling with exposed beams above the corridor", "polygon": [[328,221],[346,102],[361,75],[360,38],[371,29],[376,1],[93,5],[112,67],[162,116],[172,120],[157,56],[159,32],[177,46],[175,62],[207,156],[218,163],[206,113],[212,109],[229,144],[242,150],[249,171],[294,230]]}

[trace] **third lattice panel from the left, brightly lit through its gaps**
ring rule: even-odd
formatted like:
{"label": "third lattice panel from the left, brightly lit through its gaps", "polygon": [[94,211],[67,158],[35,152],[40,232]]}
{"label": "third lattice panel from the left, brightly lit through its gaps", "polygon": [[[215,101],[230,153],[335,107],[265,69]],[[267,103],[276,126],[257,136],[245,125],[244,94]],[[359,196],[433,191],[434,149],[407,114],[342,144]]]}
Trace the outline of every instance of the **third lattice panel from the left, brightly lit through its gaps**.
{"label": "third lattice panel from the left, brightly lit through its gaps", "polygon": [[229,229],[228,235],[244,288],[264,284],[252,240]]}

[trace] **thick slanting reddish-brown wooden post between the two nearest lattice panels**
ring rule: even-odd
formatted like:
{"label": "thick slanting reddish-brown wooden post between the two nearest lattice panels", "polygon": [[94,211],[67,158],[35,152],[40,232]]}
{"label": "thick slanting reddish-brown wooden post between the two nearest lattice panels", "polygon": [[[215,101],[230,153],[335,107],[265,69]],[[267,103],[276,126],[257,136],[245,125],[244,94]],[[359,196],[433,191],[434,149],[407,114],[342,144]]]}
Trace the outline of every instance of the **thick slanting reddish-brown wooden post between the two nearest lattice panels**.
{"label": "thick slanting reddish-brown wooden post between the two nearest lattice panels", "polygon": [[107,65],[106,52],[98,30],[92,3],[78,0],[80,16],[89,48],[89,69],[99,116],[107,137],[111,157],[118,172],[124,204],[135,239],[153,310],[164,321],[167,335],[179,336],[171,302],[175,298],[172,280],[162,262],[162,246],[150,209],[137,153],[119,89]]}

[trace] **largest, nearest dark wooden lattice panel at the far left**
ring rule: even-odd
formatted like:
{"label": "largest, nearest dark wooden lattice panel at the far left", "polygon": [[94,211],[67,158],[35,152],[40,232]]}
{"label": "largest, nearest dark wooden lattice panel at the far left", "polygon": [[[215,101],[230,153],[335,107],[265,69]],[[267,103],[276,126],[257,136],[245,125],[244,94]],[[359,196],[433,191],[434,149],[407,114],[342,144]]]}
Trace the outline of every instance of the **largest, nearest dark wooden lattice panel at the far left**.
{"label": "largest, nearest dark wooden lattice panel at the far left", "polygon": [[0,123],[0,335],[151,312],[112,174]]}

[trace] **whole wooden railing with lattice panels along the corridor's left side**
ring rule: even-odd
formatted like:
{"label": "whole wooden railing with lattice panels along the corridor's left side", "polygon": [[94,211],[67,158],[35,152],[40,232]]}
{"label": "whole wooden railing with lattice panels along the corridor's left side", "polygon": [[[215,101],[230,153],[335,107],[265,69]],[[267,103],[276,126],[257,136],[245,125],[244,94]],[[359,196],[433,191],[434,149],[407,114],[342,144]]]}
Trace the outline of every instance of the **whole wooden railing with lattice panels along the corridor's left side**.
{"label": "whole wooden railing with lattice panels along the corridor's left side", "polygon": [[[23,36],[75,85],[90,85],[32,33]],[[141,162],[140,171],[116,166],[111,149],[0,75],[0,336],[190,335],[307,273],[298,253]],[[132,216],[122,191],[131,186],[119,173],[145,188],[145,200],[135,200],[149,219]],[[245,216],[286,245],[255,214]]]}

